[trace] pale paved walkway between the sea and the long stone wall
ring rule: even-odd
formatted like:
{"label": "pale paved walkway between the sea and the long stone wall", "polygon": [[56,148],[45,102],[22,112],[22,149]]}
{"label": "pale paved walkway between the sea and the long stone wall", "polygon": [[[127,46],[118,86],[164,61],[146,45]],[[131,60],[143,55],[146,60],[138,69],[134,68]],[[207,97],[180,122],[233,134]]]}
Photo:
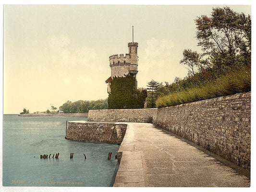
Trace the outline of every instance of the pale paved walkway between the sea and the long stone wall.
{"label": "pale paved walkway between the sea and the long stone wall", "polygon": [[127,124],[114,187],[250,186],[248,177],[220,163],[195,144],[189,145],[153,124]]}

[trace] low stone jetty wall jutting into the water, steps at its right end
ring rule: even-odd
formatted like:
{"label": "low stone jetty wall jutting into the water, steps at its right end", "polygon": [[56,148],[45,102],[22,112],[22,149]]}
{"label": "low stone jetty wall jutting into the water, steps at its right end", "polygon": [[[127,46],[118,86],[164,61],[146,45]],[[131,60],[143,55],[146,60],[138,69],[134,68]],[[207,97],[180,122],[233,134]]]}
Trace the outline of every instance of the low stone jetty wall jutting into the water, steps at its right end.
{"label": "low stone jetty wall jutting into the water, steps at its right end", "polygon": [[65,139],[121,144],[127,124],[69,122]]}

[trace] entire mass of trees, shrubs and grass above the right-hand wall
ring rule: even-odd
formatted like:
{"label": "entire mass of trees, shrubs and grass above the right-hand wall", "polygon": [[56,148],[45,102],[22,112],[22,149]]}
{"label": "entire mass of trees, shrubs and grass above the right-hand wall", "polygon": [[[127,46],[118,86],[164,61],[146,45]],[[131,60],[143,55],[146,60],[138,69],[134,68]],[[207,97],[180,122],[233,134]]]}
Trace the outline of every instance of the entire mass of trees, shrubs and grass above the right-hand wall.
{"label": "entire mass of trees, shrubs and grass above the right-hand wall", "polygon": [[[195,19],[202,54],[185,49],[188,76],[160,86],[156,106],[165,107],[251,90],[251,17],[229,7]],[[204,59],[203,59],[204,58]]]}

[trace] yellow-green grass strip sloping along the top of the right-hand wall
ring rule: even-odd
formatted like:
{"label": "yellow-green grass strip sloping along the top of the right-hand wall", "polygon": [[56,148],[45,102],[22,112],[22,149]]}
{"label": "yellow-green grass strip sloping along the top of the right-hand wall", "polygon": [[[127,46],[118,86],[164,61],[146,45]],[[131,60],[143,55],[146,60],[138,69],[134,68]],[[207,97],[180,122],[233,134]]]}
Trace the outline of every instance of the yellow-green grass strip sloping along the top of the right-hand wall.
{"label": "yellow-green grass strip sloping along the top of the right-hand wall", "polygon": [[214,81],[208,81],[201,87],[187,89],[159,97],[157,107],[174,106],[196,102],[221,96],[232,95],[251,90],[251,68],[242,67],[220,76]]}

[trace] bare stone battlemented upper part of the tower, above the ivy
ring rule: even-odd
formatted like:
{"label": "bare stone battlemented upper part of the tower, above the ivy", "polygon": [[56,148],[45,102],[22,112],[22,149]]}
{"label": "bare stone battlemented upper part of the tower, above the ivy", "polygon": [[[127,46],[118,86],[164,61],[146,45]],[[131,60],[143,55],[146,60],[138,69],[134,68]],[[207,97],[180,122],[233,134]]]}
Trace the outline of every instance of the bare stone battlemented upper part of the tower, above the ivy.
{"label": "bare stone battlemented upper part of the tower, above the ivy", "polygon": [[128,54],[110,56],[111,77],[106,80],[108,93],[111,92],[110,84],[114,77],[125,77],[128,74],[136,77],[138,73],[138,43],[128,43]]}

